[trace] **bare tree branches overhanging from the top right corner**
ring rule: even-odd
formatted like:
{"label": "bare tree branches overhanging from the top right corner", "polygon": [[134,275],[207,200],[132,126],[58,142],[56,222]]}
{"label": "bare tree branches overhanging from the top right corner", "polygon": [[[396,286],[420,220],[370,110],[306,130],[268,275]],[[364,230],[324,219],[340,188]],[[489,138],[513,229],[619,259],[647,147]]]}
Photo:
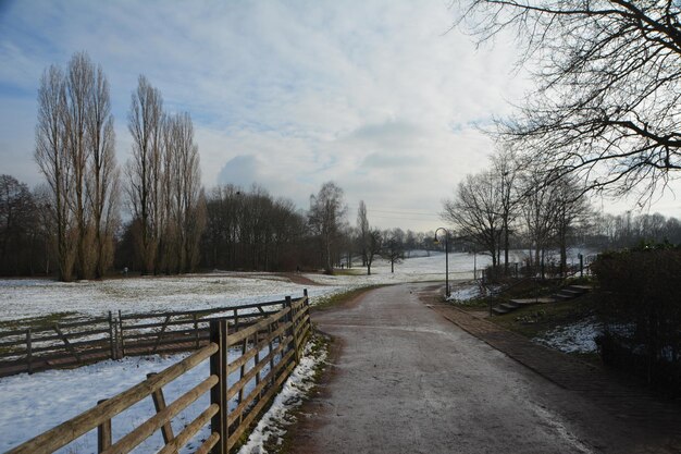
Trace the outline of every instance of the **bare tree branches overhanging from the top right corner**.
{"label": "bare tree branches overhanging from the top right corner", "polygon": [[[537,89],[509,122],[552,179],[651,197],[681,168],[681,3],[668,0],[462,0],[481,40],[515,32]],[[546,179],[545,179],[546,180]],[[547,184],[549,182],[545,182]],[[640,200],[642,201],[642,200]]]}

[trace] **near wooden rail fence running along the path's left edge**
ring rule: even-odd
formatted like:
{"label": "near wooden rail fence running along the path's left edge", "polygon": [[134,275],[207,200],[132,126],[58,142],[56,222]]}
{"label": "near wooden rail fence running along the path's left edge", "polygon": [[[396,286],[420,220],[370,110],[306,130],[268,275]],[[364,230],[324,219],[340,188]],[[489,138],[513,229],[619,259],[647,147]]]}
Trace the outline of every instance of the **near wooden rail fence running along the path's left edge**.
{"label": "near wooden rail fence running along the path's left edge", "polygon": [[[311,333],[307,296],[297,300],[286,298],[283,308],[274,314],[259,312],[251,315],[248,323],[243,324],[234,322],[234,315],[212,318],[206,345],[187,358],[150,375],[115,396],[100,401],[97,406],[12,449],[8,454],[52,453],[92,430],[97,430],[98,434],[98,453],[128,453],[160,430],[164,446],[159,452],[170,454],[187,445],[201,429],[205,429],[206,437],[196,453],[227,454],[274,398],[298,364]],[[253,317],[258,320],[253,321]],[[239,354],[230,360],[228,353],[235,349]],[[208,377],[166,405],[163,386],[206,359],[210,360]],[[233,375],[237,380],[228,386]],[[210,404],[175,434],[171,426],[173,418],[206,394],[210,395]],[[112,418],[144,398],[152,398],[156,414],[129,433],[112,440]]]}

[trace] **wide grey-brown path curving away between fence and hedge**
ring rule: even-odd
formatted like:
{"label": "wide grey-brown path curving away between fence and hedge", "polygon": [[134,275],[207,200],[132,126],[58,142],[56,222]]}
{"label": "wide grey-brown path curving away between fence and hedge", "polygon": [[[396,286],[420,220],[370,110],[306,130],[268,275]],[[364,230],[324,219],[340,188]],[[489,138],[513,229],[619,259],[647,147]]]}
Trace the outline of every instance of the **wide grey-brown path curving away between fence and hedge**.
{"label": "wide grey-brown path curving away between fence and hedge", "polygon": [[379,289],[315,314],[336,352],[293,452],[673,452],[447,321],[422,292]]}

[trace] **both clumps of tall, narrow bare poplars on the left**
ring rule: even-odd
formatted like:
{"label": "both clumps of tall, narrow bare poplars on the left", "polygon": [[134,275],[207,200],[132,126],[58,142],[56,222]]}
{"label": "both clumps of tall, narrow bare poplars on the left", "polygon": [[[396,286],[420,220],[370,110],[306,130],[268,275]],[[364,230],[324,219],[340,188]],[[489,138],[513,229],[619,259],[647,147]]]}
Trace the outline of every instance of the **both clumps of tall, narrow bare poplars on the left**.
{"label": "both clumps of tall, narrow bare poplars on the left", "polygon": [[191,119],[165,113],[159,90],[140,76],[128,130],[133,156],[122,183],[101,66],[79,52],[65,71],[59,65],[45,71],[35,159],[47,183],[41,208],[53,226],[62,280],[101,278],[111,267],[122,186],[143,272],[184,272],[197,263],[205,216]]}

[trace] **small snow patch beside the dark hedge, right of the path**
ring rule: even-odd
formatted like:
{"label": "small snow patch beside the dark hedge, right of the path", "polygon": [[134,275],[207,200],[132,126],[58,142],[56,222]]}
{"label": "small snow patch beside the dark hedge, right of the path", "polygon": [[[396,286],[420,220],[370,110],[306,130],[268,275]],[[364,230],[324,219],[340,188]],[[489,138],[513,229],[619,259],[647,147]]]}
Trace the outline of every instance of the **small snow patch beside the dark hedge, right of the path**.
{"label": "small snow patch beside the dark hedge, right of the path", "polygon": [[595,317],[557,327],[532,341],[564,353],[596,353],[595,338],[603,332]]}

